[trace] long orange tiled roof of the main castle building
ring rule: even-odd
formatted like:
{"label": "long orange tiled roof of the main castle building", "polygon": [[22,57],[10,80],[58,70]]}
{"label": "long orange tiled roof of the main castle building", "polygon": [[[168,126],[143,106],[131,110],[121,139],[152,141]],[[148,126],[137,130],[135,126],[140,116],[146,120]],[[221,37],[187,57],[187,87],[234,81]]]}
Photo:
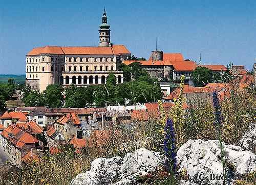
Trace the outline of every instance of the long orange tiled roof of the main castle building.
{"label": "long orange tiled roof of the main castle building", "polygon": [[131,54],[124,45],[113,45],[113,47],[86,47],[86,46],[44,46],[36,47],[28,52],[28,56],[40,54],[58,55],[119,55]]}

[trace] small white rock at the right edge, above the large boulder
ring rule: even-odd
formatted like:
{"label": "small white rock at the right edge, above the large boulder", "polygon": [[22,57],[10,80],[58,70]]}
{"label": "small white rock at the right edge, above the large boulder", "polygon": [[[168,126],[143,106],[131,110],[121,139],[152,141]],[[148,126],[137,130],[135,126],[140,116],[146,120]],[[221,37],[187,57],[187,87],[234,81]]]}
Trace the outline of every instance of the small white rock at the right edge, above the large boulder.
{"label": "small white rock at the right edge, above the large boulder", "polygon": [[244,150],[249,150],[254,154],[256,153],[256,122],[250,124],[248,130],[239,141],[239,145]]}

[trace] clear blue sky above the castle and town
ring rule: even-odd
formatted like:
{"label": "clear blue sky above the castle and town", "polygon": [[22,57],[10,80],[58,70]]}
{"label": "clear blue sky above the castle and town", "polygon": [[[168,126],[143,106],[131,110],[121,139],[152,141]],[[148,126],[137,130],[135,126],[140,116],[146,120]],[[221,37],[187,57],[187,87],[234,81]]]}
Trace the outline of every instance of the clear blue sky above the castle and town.
{"label": "clear blue sky above the castle and town", "polygon": [[137,57],[155,48],[202,64],[252,69],[256,1],[0,1],[0,74],[25,73],[25,55],[45,45],[96,46],[103,7],[111,41]]}

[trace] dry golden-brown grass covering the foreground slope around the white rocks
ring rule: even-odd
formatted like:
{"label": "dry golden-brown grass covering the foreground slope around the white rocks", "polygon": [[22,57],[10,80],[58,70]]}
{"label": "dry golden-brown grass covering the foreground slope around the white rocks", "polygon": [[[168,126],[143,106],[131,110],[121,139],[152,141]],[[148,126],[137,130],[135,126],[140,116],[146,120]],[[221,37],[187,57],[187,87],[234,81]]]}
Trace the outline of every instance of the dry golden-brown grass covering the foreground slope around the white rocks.
{"label": "dry golden-brown grass covering the foreground slope around the white rocks", "polygon": [[[222,101],[222,138],[226,143],[236,144],[255,118],[254,90],[233,88],[230,90],[231,96]],[[183,129],[176,133],[180,135],[177,138],[182,138],[178,142],[182,144],[189,139],[217,139],[211,100],[195,98],[193,106],[184,115]],[[123,156],[139,147],[162,151],[163,135],[159,133],[161,128],[160,120],[154,119],[135,123],[130,128],[115,126],[111,128],[110,139],[103,147],[93,145],[77,154],[71,146],[66,146],[59,154],[46,154],[39,163],[26,164],[17,171],[2,175],[0,184],[70,184],[77,174],[90,169],[90,163],[95,158]],[[161,184],[161,179],[156,182]]]}

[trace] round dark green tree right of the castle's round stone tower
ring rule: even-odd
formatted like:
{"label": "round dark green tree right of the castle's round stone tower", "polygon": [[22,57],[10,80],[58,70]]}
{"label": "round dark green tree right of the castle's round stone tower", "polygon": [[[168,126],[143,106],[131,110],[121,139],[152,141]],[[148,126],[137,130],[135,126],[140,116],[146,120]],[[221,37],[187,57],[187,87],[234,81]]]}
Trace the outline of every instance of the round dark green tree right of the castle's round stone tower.
{"label": "round dark green tree right of the castle's round stone tower", "polygon": [[212,83],[212,71],[206,67],[198,66],[192,75],[195,87],[204,87],[208,83]]}

